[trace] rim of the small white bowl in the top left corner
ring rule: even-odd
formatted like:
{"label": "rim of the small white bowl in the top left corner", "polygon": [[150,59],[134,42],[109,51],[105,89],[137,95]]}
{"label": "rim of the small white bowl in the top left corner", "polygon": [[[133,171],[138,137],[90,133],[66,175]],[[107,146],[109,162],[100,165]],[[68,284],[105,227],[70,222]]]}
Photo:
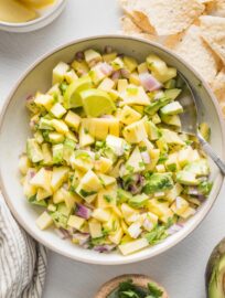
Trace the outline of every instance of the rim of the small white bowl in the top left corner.
{"label": "rim of the small white bowl in the top left corner", "polygon": [[[39,24],[39,23],[42,23],[44,22],[45,20],[47,20],[52,14],[54,14],[57,10],[60,10],[65,3],[66,3],[67,0],[60,0],[58,3],[53,3],[52,7],[52,11],[47,12],[45,15],[42,15],[40,18],[36,18],[36,19],[33,19],[31,21],[28,21],[28,22],[21,22],[21,23],[12,23],[12,22],[3,22],[3,21],[0,21],[0,26],[2,28],[8,28],[8,29],[22,29],[22,28],[26,28],[26,26],[32,26],[34,24]],[[47,7],[51,7],[47,6]]]}

